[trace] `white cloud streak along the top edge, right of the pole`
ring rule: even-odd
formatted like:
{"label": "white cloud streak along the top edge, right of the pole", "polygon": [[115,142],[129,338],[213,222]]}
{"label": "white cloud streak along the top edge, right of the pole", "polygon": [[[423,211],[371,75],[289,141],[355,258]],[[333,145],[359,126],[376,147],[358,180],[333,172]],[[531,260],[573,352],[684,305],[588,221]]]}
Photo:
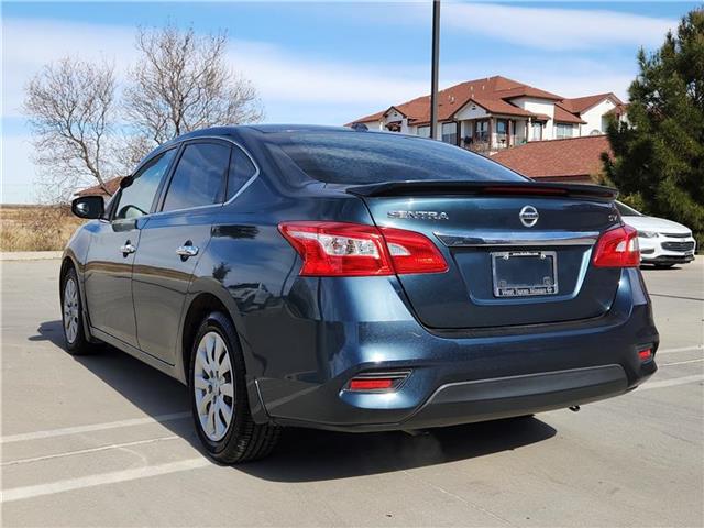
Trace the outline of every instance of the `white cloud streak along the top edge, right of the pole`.
{"label": "white cloud streak along the top edge, right of the pole", "polygon": [[[414,11],[417,13],[418,11]],[[448,3],[443,28],[541,50],[654,46],[676,21],[608,10]]]}

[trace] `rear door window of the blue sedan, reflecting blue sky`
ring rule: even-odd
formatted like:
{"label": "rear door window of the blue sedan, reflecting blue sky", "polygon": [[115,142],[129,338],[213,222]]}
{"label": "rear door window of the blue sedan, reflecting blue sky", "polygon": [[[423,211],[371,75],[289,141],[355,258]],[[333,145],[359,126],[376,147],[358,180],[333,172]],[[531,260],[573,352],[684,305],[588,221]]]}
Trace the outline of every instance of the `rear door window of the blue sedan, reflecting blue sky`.
{"label": "rear door window of the blue sedan, reflecting blue sky", "polygon": [[230,147],[220,143],[186,145],[168,186],[164,211],[223,201]]}

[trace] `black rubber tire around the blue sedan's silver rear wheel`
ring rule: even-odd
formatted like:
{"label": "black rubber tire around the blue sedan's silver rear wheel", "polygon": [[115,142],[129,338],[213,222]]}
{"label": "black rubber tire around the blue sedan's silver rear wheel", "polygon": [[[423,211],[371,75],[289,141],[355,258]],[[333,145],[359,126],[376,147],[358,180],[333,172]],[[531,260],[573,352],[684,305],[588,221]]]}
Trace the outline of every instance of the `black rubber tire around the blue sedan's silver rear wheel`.
{"label": "black rubber tire around the blue sedan's silver rear wheel", "polygon": [[[213,441],[208,438],[198,416],[194,377],[196,355],[202,338],[210,332],[218,333],[226,343],[227,353],[233,373],[232,408],[234,414],[222,439]],[[271,425],[258,425],[252,419],[246,391],[245,365],[242,350],[234,326],[228,316],[215,311],[201,322],[191,343],[190,365],[188,370],[188,388],[191,402],[194,424],[198,437],[208,454],[222,464],[250,462],[267,457],[276,447],[280,428]],[[212,404],[210,404],[212,405]]]}

